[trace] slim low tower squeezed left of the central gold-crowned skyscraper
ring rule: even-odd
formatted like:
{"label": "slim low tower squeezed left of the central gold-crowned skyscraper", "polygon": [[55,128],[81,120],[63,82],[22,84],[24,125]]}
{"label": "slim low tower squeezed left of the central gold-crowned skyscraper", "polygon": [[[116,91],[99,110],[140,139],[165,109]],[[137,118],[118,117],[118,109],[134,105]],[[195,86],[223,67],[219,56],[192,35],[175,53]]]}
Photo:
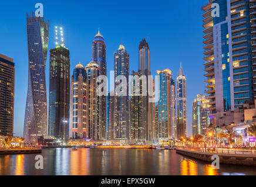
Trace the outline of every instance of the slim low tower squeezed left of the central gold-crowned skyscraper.
{"label": "slim low tower squeezed left of the central gold-crowned skyscraper", "polygon": [[108,140],[114,140],[114,92],[107,96]]}

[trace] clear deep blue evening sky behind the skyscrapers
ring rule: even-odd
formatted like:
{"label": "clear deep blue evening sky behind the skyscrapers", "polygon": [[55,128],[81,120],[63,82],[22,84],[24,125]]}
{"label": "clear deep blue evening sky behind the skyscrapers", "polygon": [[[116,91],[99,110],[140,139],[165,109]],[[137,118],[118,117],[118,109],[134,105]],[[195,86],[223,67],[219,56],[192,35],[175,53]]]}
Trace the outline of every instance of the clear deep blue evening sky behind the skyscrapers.
{"label": "clear deep blue evening sky behind the skyscrapers", "polygon": [[[22,136],[28,87],[26,12],[42,3],[50,20],[49,49],[55,47],[54,26],[62,23],[66,47],[70,50],[71,71],[79,61],[91,59],[91,45],[98,28],[107,46],[107,71],[113,70],[113,53],[121,40],[130,54],[130,71],[138,68],[138,47],[148,39],[151,74],[169,68],[177,77],[180,61],[187,77],[188,131],[191,134],[192,102],[204,92],[203,27],[201,6],[207,0],[98,0],[98,1],[5,1],[0,5],[0,53],[14,58],[14,135]],[[46,66],[49,88],[49,53]],[[49,91],[49,89],[48,89]]]}

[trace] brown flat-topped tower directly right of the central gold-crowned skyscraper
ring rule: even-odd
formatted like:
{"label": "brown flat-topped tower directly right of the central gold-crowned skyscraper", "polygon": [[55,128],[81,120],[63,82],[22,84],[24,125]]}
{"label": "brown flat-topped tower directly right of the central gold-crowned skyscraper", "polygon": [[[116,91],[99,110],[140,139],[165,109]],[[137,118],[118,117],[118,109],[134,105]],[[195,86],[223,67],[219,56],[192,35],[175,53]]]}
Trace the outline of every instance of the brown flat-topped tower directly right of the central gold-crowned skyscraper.
{"label": "brown flat-topped tower directly right of the central gold-crowned skyscraper", "polygon": [[[130,99],[130,138],[134,143],[146,143],[147,140],[147,96],[143,96],[143,79],[146,75],[141,71],[132,71],[132,76],[138,76],[140,81],[134,79],[132,95]],[[136,85],[137,84],[137,85]],[[138,89],[138,90],[137,90]],[[139,93],[138,95],[136,94]]]}

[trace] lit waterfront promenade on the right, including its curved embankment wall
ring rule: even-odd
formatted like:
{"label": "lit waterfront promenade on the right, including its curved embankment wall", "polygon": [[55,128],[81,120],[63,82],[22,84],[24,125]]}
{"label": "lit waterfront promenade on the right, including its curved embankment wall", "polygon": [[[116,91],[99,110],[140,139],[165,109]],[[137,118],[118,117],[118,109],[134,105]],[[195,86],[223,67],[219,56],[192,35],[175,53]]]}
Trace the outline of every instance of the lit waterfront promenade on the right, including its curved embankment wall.
{"label": "lit waterfront promenade on the right, including its curved embankment wall", "polygon": [[256,150],[252,149],[178,147],[176,153],[207,162],[218,155],[222,164],[256,166]]}

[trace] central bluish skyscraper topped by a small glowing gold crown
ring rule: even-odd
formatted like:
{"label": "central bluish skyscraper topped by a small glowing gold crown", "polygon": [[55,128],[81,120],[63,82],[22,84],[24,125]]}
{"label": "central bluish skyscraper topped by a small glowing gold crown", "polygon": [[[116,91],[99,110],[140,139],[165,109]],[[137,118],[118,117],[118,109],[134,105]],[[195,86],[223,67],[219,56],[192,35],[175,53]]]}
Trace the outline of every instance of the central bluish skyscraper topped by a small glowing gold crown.
{"label": "central bluish skyscraper topped by a small glowing gold crown", "polygon": [[[129,54],[123,45],[119,46],[119,49],[114,53],[114,87],[116,92],[119,92],[121,96],[116,95],[114,98],[114,139],[115,140],[128,140],[129,139],[129,84],[126,88],[117,90],[117,86],[122,82],[127,83],[129,81]],[[120,78],[123,76],[126,78]],[[119,79],[120,78],[120,79]],[[117,81],[117,79],[119,79]]]}

